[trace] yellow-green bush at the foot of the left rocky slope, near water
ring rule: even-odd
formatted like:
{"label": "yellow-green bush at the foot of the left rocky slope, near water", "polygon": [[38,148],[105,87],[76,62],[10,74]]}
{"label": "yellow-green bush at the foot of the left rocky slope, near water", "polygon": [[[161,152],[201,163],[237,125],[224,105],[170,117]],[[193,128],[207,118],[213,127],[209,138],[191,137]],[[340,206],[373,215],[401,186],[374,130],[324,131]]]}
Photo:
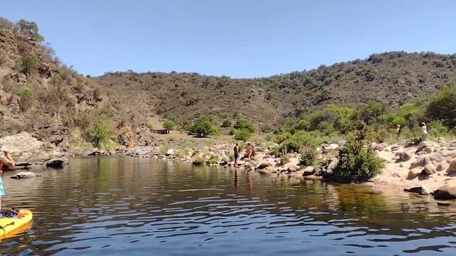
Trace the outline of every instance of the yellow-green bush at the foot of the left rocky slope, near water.
{"label": "yellow-green bush at the foot of the left rocky slope, near water", "polygon": [[93,146],[106,148],[113,144],[110,139],[113,132],[113,124],[108,119],[100,119],[95,121],[86,131],[86,137]]}

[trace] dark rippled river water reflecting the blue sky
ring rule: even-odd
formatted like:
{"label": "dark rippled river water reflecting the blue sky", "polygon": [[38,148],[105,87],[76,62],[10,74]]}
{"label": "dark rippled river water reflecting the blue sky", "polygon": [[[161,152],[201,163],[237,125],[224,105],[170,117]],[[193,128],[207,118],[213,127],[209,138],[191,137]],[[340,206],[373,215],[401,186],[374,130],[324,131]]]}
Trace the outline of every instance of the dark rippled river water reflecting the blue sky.
{"label": "dark rippled river water reflecting the blue sky", "polygon": [[456,205],[171,161],[71,159],[3,175],[33,225],[1,255],[456,255]]}

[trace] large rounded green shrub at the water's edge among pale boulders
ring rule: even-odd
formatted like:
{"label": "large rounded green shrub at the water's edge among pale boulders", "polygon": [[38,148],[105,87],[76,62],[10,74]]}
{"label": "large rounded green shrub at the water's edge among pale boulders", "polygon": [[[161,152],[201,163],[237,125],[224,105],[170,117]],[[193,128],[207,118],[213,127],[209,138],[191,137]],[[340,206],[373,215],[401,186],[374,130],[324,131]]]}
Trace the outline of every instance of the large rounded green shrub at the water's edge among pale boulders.
{"label": "large rounded green shrub at the water's edge among pale boulders", "polygon": [[362,142],[351,140],[339,151],[339,161],[334,169],[338,181],[363,182],[380,174],[383,161],[372,150],[363,149]]}

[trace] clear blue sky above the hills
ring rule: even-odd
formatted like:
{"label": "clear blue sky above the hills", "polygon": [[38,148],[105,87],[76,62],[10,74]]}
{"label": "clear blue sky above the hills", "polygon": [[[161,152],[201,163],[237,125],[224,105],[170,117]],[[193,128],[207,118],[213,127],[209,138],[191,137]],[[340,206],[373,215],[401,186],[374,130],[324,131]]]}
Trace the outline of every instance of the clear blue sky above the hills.
{"label": "clear blue sky above the hills", "polygon": [[390,50],[456,53],[452,0],[1,0],[0,16],[36,21],[85,75],[252,78]]}

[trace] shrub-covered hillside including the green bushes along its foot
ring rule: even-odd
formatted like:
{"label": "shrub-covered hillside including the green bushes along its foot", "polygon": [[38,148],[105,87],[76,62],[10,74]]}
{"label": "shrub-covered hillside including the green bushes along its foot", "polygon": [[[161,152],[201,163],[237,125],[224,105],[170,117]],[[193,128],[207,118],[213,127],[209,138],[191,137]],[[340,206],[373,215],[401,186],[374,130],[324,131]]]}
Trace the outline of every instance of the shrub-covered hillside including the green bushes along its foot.
{"label": "shrub-covered hillside including the green bushes along its foot", "polygon": [[286,151],[353,136],[383,142],[434,136],[456,126],[456,55],[390,52],[269,78],[198,73],[105,73],[64,65],[38,25],[0,19],[1,135],[26,130],[54,146],[113,147],[154,142],[150,118],[167,129],[248,140],[272,132]]}

